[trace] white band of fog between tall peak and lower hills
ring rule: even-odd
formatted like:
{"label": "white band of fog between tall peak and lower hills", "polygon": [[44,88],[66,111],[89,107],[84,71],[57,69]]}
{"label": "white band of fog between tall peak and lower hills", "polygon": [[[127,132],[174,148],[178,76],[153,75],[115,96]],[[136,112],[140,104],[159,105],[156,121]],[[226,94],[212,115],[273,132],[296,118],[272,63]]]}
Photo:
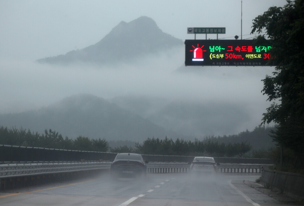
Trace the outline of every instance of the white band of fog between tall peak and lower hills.
{"label": "white band of fog between tall peak and lower hills", "polygon": [[[0,113],[38,109],[74,94],[88,93],[105,99],[143,96],[163,99],[166,103],[227,105],[227,109],[242,111],[229,112],[228,119],[227,115],[220,118],[217,113],[218,119],[212,121],[218,125],[229,122],[231,129],[204,135],[238,133],[261,123],[262,113],[270,105],[261,93],[261,79],[271,74],[274,67],[185,67],[183,49],[174,48],[132,63],[106,66],[2,61]],[[245,121],[233,124],[235,119]]]}

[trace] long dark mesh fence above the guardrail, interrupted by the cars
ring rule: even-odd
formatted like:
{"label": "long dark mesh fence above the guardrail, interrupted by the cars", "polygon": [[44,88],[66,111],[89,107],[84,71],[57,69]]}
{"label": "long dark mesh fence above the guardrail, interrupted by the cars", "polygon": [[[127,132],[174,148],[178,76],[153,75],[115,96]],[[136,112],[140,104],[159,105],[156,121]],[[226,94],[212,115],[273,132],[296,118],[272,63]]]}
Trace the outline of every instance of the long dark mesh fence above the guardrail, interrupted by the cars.
{"label": "long dark mesh fence above the guardrail, interrupted by the cars", "polygon": [[[0,163],[113,161],[117,153],[0,145]],[[194,156],[147,155],[149,162],[192,162]],[[217,163],[272,164],[271,159],[214,157]]]}

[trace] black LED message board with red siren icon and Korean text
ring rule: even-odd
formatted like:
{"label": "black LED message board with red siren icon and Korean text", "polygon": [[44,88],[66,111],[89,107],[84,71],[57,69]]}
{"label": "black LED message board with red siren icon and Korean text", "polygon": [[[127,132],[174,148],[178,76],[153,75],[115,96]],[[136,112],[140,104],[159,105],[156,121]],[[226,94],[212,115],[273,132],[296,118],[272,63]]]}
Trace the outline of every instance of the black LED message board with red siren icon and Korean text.
{"label": "black LED message board with red siren icon and Korean text", "polygon": [[185,65],[273,66],[266,65],[270,49],[253,40],[185,40]]}

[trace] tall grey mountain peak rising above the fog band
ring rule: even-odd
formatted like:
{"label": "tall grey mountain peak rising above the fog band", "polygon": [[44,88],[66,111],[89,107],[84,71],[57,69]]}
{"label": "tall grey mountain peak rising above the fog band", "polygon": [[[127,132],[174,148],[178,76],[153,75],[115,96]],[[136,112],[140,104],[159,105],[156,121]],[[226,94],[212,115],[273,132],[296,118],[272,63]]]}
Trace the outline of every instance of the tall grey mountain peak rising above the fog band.
{"label": "tall grey mountain peak rising above the fog band", "polygon": [[120,22],[98,43],[65,55],[37,60],[39,63],[116,63],[132,62],[175,46],[183,41],[163,33],[155,21],[149,17],[139,17],[129,23]]}

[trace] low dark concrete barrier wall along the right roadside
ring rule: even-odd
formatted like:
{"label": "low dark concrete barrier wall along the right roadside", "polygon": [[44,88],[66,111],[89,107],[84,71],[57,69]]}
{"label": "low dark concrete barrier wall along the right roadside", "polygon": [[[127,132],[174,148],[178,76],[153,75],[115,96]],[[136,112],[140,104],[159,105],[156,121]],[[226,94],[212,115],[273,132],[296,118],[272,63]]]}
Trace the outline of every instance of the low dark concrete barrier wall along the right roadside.
{"label": "low dark concrete barrier wall along the right roadside", "polygon": [[264,169],[261,184],[267,188],[274,188],[286,195],[304,200],[304,175]]}

